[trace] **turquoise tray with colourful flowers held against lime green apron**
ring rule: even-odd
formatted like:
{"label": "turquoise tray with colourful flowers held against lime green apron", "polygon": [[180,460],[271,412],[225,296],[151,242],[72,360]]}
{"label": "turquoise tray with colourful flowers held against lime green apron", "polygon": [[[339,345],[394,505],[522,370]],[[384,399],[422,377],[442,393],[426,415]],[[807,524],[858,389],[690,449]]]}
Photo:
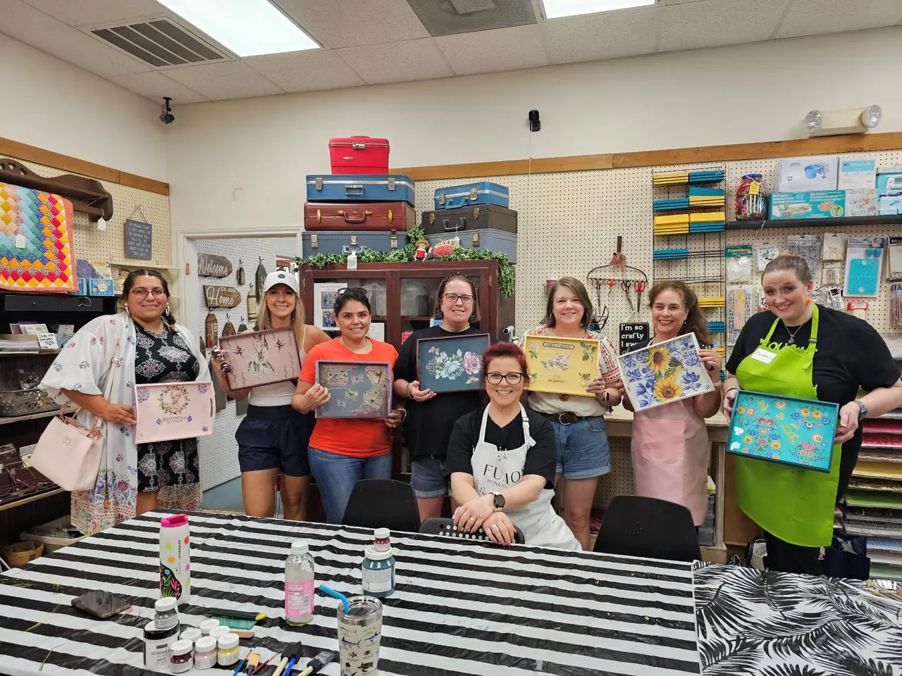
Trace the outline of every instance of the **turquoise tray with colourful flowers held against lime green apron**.
{"label": "turquoise tray with colourful flowers held against lime green apron", "polygon": [[830,471],[838,416],[839,406],[829,401],[740,390],[733,402],[727,452]]}

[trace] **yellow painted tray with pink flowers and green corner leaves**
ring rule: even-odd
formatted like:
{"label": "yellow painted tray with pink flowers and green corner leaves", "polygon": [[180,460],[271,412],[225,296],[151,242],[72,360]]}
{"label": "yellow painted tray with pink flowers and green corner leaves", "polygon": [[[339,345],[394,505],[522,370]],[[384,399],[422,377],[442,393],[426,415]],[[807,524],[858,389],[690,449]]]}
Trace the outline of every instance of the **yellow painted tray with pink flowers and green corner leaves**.
{"label": "yellow painted tray with pink flowers and green corner leaves", "polygon": [[598,341],[528,335],[523,352],[529,367],[529,386],[535,392],[591,397],[585,391],[598,378]]}

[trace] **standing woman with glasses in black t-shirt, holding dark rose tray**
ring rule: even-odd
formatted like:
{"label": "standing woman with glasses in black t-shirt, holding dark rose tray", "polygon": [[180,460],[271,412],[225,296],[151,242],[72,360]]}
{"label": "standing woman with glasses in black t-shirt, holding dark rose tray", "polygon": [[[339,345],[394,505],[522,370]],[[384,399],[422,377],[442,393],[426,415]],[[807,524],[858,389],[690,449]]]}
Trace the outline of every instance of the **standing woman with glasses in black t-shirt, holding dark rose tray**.
{"label": "standing woman with glasses in black t-shirt, holding dark rose tray", "polygon": [[472,325],[479,321],[479,300],[474,283],[465,274],[455,272],[442,279],[435,307],[433,316],[442,323],[410,333],[400,346],[395,364],[395,396],[408,399],[404,436],[410,452],[410,485],[417,494],[421,521],[441,516],[445,497],[450,494],[445,456],[451,429],[457,418],[479,407],[479,392],[438,395],[431,389],[420,389],[417,342],[424,338],[485,333]]}

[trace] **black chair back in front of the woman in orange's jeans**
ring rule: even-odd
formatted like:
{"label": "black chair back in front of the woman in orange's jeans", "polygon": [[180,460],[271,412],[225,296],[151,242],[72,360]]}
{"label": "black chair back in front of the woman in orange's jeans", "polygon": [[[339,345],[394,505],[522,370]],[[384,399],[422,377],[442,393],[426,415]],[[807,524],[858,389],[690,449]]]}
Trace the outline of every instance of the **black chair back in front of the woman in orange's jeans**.
{"label": "black chair back in front of the woman in orange's jeans", "polygon": [[347,501],[342,524],[416,533],[419,530],[417,495],[403,481],[359,480]]}

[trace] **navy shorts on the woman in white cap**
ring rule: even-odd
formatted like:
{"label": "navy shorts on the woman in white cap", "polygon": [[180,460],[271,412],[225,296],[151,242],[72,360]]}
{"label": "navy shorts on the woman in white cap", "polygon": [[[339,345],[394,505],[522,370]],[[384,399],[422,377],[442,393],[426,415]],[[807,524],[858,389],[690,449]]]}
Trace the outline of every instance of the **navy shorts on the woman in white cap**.
{"label": "navy shorts on the woman in white cap", "polygon": [[310,474],[307,444],[313,431],[312,413],[299,413],[290,405],[247,407],[238,425],[238,466],[242,471],[281,470],[287,477]]}

